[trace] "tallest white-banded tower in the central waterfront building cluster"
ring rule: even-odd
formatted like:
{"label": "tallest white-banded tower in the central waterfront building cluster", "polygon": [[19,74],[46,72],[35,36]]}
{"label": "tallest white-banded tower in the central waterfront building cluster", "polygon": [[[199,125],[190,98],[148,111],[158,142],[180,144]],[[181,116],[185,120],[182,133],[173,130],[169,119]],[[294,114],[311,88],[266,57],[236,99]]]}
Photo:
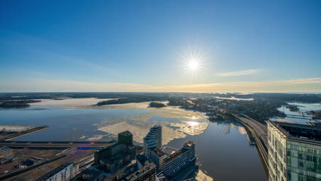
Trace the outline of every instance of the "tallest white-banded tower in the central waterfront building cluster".
{"label": "tallest white-banded tower in the central waterfront building cluster", "polygon": [[162,146],[162,134],[162,127],[154,125],[150,128],[147,136],[144,137],[143,151],[147,159],[150,159],[150,154],[155,147],[160,148]]}

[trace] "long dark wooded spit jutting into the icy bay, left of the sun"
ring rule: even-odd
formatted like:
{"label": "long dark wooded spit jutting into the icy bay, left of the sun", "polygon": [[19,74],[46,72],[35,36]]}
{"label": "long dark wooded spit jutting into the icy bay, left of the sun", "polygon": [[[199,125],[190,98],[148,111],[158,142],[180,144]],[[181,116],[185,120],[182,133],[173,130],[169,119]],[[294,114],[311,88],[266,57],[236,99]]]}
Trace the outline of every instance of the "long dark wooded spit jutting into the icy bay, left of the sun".
{"label": "long dark wooded spit jutting into the icy bay, left of the sun", "polygon": [[121,99],[112,99],[108,101],[99,101],[98,106],[110,105],[110,104],[127,104],[127,103],[139,103],[145,101],[166,101],[167,97],[156,97],[156,96],[147,96],[147,97],[127,97]]}

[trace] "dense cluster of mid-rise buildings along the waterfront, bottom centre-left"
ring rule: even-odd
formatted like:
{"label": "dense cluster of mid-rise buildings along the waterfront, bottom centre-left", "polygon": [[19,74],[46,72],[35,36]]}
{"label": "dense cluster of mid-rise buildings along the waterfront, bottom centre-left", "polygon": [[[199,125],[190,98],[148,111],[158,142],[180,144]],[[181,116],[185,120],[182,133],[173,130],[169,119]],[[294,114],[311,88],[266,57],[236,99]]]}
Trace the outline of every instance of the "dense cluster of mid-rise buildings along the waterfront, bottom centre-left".
{"label": "dense cluster of mid-rise buildings along the waterfront, bottom centre-left", "polygon": [[193,180],[193,171],[198,169],[195,142],[186,141],[181,149],[163,147],[162,134],[162,126],[154,125],[141,148],[133,144],[132,133],[121,132],[116,143],[94,153],[94,164],[90,167],[80,171],[79,164],[70,162],[38,180]]}

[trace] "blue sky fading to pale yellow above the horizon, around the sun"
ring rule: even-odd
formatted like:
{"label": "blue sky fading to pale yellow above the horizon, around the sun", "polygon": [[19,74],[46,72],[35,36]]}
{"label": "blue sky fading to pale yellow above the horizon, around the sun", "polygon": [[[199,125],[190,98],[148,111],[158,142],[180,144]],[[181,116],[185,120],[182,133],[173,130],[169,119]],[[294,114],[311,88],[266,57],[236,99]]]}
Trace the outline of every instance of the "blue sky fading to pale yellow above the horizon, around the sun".
{"label": "blue sky fading to pale yellow above the horizon, around the sun", "polygon": [[320,1],[0,1],[0,92],[321,92],[320,29]]}

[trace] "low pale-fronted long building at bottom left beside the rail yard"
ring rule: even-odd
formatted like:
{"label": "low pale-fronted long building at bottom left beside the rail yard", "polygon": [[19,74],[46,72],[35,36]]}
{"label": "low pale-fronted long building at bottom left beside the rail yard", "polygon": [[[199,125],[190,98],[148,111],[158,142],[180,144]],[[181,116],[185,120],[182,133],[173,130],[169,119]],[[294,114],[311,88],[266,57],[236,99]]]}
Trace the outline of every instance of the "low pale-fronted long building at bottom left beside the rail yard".
{"label": "low pale-fronted long building at bottom left beside the rail yard", "polygon": [[60,165],[53,169],[45,176],[38,179],[38,181],[68,181],[73,180],[79,173],[79,165],[75,162]]}

